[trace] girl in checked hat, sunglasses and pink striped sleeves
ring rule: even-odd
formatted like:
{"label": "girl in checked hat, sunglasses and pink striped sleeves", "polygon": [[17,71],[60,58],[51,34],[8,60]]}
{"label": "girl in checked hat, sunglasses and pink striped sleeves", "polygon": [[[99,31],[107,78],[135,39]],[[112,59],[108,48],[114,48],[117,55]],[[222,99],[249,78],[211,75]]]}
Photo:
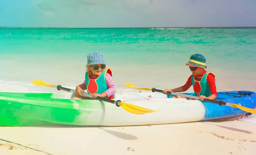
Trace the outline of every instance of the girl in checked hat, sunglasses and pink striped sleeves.
{"label": "girl in checked hat, sunglasses and pink striped sleeves", "polygon": [[103,55],[99,52],[88,54],[86,67],[84,83],[76,86],[76,97],[72,99],[89,99],[81,96],[81,91],[84,92],[84,90],[93,94],[93,99],[98,96],[115,99],[116,85],[112,71],[105,65]]}

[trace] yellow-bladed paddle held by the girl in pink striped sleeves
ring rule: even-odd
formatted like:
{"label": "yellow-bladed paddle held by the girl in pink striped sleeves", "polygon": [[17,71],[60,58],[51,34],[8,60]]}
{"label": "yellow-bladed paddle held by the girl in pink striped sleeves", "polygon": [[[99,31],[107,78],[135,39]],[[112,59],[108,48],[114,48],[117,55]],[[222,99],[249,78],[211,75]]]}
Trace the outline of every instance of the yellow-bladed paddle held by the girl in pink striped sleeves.
{"label": "yellow-bladed paddle held by the girl in pink striped sleeves", "polygon": [[[37,86],[53,87],[53,88],[57,88],[57,90],[64,90],[64,91],[73,92],[73,93],[76,92],[76,90],[61,87],[61,85],[57,85],[57,86],[56,85],[50,85],[50,84],[48,84],[46,82],[43,82],[43,81],[40,81],[40,80],[34,80],[32,83],[34,85],[37,85]],[[87,96],[87,97],[93,98],[93,96],[89,93],[81,92],[81,94],[82,94],[82,96]],[[109,103],[112,103],[112,104],[116,104],[117,107],[121,106],[126,111],[128,111],[129,113],[133,113],[133,114],[137,114],[137,115],[141,115],[141,114],[145,114],[145,113],[153,113],[155,111],[159,111],[159,110],[150,110],[150,109],[146,109],[144,107],[139,107],[137,105],[124,103],[120,100],[115,101],[115,100],[111,100],[111,99],[107,99],[107,98],[99,97],[99,96],[96,97],[96,99],[101,100],[101,101],[106,101],[106,102],[109,102]]]}

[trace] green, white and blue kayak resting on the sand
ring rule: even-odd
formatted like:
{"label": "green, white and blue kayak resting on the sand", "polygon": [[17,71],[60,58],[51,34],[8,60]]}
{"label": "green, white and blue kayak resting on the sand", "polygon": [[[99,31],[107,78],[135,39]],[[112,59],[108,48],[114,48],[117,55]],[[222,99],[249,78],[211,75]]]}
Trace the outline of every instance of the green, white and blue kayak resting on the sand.
{"label": "green, white and blue kayak resting on the sand", "polygon": [[[234,97],[230,94],[238,94]],[[242,94],[242,95],[241,95]],[[122,107],[100,100],[72,100],[73,93],[5,93],[0,92],[1,126],[38,126],[49,124],[83,126],[131,126],[170,124],[225,118],[245,114],[238,108],[219,106],[209,102],[169,99],[156,93],[148,98],[145,92],[117,93],[122,101],[159,110],[135,115]],[[219,92],[219,99],[256,108],[256,94]]]}

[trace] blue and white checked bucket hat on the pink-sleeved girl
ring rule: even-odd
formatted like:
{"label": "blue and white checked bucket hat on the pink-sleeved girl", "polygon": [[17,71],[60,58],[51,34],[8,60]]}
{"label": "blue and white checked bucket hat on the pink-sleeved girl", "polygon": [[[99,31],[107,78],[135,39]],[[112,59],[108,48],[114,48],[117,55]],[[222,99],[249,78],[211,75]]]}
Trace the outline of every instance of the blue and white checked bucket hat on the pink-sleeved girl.
{"label": "blue and white checked bucket hat on the pink-sleeved girl", "polygon": [[87,55],[87,65],[105,64],[104,56],[99,52],[92,52]]}

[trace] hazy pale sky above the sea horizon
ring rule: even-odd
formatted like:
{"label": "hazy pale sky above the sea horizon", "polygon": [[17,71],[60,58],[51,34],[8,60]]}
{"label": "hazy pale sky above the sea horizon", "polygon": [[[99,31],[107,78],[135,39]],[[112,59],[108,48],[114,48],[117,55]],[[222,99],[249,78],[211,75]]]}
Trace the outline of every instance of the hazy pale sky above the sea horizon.
{"label": "hazy pale sky above the sea horizon", "polygon": [[256,0],[0,0],[0,27],[255,27]]}

